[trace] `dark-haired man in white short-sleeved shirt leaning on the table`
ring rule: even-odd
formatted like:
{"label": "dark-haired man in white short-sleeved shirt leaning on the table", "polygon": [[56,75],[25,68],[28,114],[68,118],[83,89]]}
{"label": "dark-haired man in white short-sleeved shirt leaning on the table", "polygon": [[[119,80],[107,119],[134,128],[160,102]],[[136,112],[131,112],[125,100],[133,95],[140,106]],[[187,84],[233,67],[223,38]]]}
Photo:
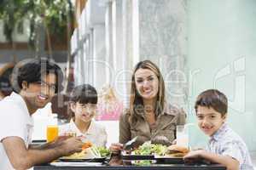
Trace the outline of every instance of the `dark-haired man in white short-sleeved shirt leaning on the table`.
{"label": "dark-haired man in white short-sleeved shirt leaning on the table", "polygon": [[61,68],[49,59],[29,59],[15,66],[14,91],[0,101],[0,169],[27,169],[35,164],[79,152],[79,138],[61,137],[37,148],[32,138],[32,114],[61,90]]}

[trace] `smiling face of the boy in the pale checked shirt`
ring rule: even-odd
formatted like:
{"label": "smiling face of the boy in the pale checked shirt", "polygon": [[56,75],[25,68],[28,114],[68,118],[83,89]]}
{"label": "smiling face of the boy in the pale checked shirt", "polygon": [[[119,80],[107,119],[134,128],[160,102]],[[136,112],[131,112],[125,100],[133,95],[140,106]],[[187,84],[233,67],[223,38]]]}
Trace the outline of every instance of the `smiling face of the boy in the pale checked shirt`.
{"label": "smiling face of the boy in the pale checked shirt", "polygon": [[226,120],[226,116],[222,116],[221,113],[215,111],[212,107],[208,108],[200,105],[197,108],[196,116],[198,126],[208,136],[216,133]]}

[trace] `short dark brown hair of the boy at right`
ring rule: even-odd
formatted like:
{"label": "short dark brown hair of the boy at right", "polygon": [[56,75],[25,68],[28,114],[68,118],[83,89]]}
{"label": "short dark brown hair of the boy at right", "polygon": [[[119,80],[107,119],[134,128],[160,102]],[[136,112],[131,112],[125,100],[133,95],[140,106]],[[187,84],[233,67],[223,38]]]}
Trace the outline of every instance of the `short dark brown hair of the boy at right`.
{"label": "short dark brown hair of the boy at right", "polygon": [[195,101],[195,112],[197,113],[198,106],[212,107],[215,111],[218,111],[222,116],[228,112],[228,99],[219,92],[217,89],[208,89],[197,97]]}

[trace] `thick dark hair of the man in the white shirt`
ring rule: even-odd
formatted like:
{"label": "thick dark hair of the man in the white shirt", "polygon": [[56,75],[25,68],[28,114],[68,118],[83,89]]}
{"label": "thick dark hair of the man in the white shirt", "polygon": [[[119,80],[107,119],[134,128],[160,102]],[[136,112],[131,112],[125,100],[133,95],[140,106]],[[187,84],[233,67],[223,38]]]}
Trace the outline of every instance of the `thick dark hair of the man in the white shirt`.
{"label": "thick dark hair of the man in the white shirt", "polygon": [[22,88],[22,82],[28,84],[32,82],[40,82],[42,77],[54,73],[56,76],[55,94],[63,89],[61,83],[63,81],[63,73],[61,68],[55,64],[52,59],[25,59],[15,65],[12,74],[12,86],[14,91],[19,93]]}

